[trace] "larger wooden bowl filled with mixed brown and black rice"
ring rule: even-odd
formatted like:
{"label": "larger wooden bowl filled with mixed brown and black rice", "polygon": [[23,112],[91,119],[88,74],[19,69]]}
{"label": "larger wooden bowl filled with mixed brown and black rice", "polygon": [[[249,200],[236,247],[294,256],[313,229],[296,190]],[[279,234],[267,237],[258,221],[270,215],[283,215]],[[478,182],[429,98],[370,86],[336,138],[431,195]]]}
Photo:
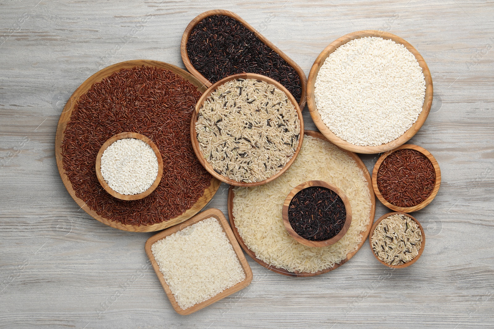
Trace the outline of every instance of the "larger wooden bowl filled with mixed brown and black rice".
{"label": "larger wooden bowl filled with mixed brown and black rice", "polygon": [[204,168],[236,186],[261,185],[281,176],[300,151],[303,131],[302,113],[288,90],[254,73],[234,74],[209,87],[190,126],[192,146]]}

